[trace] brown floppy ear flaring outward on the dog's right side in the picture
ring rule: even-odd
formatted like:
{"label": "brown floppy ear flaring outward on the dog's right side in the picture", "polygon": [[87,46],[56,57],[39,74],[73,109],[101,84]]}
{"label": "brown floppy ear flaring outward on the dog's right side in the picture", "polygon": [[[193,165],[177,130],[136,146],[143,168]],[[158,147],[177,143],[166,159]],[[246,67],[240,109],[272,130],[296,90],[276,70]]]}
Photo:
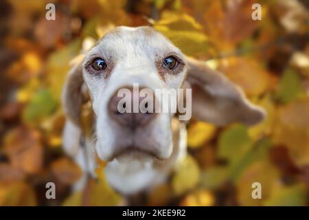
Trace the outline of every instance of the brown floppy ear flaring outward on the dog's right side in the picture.
{"label": "brown floppy ear flaring outward on the dog's right side in the picture", "polygon": [[[265,111],[249,102],[240,87],[205,63],[186,57],[186,83],[192,88],[192,116],[219,126],[231,122],[253,125]],[[254,79],[253,79],[254,80]]]}

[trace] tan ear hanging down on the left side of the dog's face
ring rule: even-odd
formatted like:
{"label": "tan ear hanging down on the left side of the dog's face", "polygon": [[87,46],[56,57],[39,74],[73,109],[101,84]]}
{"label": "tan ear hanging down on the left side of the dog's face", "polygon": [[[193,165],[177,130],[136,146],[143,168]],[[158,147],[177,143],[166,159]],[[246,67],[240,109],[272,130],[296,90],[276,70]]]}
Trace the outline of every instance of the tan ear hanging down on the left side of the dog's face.
{"label": "tan ear hanging down on the left side of the dog's face", "polygon": [[82,103],[87,99],[88,89],[82,77],[82,62],[72,67],[62,90],[62,107],[67,119],[80,126]]}

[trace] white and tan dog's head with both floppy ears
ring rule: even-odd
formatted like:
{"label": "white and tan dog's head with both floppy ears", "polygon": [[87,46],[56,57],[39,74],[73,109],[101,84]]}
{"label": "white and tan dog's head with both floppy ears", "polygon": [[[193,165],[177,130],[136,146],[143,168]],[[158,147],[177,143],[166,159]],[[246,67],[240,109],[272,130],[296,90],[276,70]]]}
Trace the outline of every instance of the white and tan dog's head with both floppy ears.
{"label": "white and tan dog's head with both floppy ears", "polygon": [[[134,91],[147,89],[145,94]],[[86,85],[95,113],[95,151],[101,159],[126,161],[139,157],[165,160],[173,153],[171,120],[174,112],[120,113],[119,90],[128,91],[138,104],[161,102],[155,89],[192,89],[192,116],[218,125],[231,122],[255,124],[264,111],[244,98],[225,76],[203,62],[182,54],[162,34],[149,27],[115,28],[73,67],[67,78],[63,105],[69,120],[80,124],[82,85]],[[177,96],[177,101],[183,96]],[[130,104],[133,102],[126,102]],[[146,104],[146,105],[147,105]],[[149,110],[149,109],[148,109]]]}

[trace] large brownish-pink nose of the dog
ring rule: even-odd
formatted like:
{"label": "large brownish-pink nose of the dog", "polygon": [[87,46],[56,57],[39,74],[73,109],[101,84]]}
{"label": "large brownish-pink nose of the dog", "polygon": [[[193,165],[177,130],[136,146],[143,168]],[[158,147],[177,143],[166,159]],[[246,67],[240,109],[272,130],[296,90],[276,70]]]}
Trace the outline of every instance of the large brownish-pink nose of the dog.
{"label": "large brownish-pink nose of the dog", "polygon": [[155,96],[150,89],[146,93],[126,89],[124,96],[118,96],[116,92],[108,103],[108,112],[117,124],[136,129],[144,126],[155,118]]}

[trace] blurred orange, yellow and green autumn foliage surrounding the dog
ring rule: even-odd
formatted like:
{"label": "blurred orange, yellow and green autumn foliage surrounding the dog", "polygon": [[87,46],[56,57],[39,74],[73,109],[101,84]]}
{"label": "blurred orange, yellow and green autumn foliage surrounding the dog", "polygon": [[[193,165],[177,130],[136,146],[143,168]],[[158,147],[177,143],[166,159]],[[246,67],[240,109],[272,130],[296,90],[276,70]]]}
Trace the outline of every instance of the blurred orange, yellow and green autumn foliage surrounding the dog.
{"label": "blurred orange, yellow and green autumn foliage surrounding the dog", "polygon": [[[56,21],[45,19],[47,3]],[[253,3],[261,21],[251,19]],[[192,120],[187,158],[143,205],[307,206],[308,8],[306,0],[0,1],[0,206],[124,202],[102,176],[71,193],[81,171],[61,138],[69,63],[117,25],[152,25],[268,112],[251,128]],[[48,181],[56,199],[45,197]],[[251,197],[256,181],[262,199]]]}

